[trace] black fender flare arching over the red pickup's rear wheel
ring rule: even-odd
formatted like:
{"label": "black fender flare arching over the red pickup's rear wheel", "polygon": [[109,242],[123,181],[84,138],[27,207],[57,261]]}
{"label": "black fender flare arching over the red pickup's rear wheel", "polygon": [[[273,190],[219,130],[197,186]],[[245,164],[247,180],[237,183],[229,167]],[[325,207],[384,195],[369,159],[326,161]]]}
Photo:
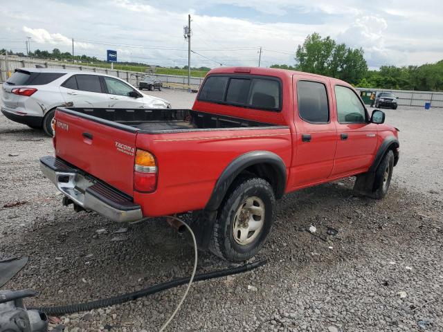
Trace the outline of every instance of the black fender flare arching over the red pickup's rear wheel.
{"label": "black fender flare arching over the red pickup's rear wheel", "polygon": [[215,211],[221,205],[226,192],[235,178],[246,168],[257,165],[268,164],[273,167],[275,174],[277,175],[277,181],[274,184],[275,196],[280,198],[284,194],[286,188],[286,165],[280,156],[274,154],[271,151],[251,151],[246,154],[242,154],[235,158],[219,176],[213,193],[210,196],[208,203],[206,204],[206,211]]}

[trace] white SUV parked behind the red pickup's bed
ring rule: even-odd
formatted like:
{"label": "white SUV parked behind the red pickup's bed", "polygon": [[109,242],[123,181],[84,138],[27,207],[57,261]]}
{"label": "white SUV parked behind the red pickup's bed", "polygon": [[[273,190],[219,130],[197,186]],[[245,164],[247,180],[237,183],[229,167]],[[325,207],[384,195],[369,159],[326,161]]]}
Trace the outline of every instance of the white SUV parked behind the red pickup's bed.
{"label": "white SUV parked behind the red pickup's bed", "polygon": [[117,77],[63,69],[19,68],[3,83],[1,113],[51,135],[55,108],[165,109],[166,100],[144,95]]}

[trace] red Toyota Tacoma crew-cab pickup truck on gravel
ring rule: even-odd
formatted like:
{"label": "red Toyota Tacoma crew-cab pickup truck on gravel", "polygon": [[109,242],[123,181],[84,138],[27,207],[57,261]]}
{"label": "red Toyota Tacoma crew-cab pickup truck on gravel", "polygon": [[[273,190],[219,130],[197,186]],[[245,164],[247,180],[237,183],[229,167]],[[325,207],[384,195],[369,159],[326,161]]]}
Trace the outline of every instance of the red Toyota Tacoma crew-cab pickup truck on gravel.
{"label": "red Toyota Tacoma crew-cab pickup truck on gravel", "polygon": [[114,221],[193,212],[200,248],[244,261],[271,230],[275,199],[356,176],[381,199],[398,129],[346,82],[269,68],[217,68],[192,109],[63,108],[44,174],[64,204]]}

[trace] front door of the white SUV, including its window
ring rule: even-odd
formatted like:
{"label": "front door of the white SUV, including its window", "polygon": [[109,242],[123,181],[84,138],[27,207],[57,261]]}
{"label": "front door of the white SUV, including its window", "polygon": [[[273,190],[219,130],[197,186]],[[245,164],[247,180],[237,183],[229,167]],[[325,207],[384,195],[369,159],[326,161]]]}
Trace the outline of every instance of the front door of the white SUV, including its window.
{"label": "front door of the white SUV, including its window", "polygon": [[132,86],[113,77],[103,76],[102,79],[109,95],[109,107],[143,109],[143,98],[129,96],[137,92]]}

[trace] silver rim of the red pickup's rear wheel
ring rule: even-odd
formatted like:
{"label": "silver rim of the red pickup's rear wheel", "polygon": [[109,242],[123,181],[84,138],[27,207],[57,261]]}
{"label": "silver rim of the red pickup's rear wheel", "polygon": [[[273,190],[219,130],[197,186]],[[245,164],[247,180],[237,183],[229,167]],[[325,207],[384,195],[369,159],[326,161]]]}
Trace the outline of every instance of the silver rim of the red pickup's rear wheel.
{"label": "silver rim of the red pickup's rear wheel", "polygon": [[234,216],[233,238],[240,246],[257,239],[264,225],[264,203],[256,196],[248,197]]}

